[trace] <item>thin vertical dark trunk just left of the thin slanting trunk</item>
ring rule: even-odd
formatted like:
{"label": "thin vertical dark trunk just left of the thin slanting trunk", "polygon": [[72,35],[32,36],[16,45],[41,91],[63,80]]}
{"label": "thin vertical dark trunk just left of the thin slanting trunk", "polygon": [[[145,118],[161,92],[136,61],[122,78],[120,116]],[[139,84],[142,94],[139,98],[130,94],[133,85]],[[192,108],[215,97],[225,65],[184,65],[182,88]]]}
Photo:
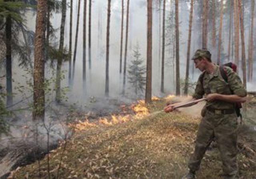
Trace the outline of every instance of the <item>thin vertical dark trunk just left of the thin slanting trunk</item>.
{"label": "thin vertical dark trunk just left of the thin slanting trunk", "polygon": [[68,61],[68,85],[72,83],[72,25],[73,25],[73,0],[70,0],[70,23],[69,23],[69,61]]}

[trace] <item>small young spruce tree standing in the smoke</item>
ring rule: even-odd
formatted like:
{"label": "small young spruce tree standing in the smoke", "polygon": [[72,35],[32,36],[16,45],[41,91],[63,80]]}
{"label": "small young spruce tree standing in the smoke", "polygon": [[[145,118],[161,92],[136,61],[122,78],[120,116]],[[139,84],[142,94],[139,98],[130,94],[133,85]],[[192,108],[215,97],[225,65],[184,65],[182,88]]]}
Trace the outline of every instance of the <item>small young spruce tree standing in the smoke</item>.
{"label": "small young spruce tree standing in the smoke", "polygon": [[143,92],[146,85],[146,67],[143,66],[143,60],[140,54],[140,47],[137,44],[135,50],[133,50],[131,64],[128,70],[128,82],[135,88],[135,94],[137,95],[138,90]]}

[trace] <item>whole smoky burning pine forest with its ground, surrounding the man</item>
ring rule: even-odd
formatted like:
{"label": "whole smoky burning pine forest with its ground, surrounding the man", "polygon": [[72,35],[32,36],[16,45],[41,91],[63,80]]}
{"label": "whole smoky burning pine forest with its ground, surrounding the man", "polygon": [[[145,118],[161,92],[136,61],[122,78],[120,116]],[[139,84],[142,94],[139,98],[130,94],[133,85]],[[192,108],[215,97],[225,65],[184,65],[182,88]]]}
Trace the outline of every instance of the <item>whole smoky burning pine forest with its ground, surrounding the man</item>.
{"label": "whole smoky burning pine forest with its ground, surrounding the man", "polygon": [[[167,168],[185,171],[181,153],[192,152],[203,106],[162,109],[194,93],[197,49],[209,50],[214,64],[237,66],[248,92],[238,165],[243,178],[255,177],[255,11],[255,0],[0,0],[0,179],[181,178]],[[165,143],[177,138],[161,144],[168,152],[190,145],[167,157],[171,165],[160,134]],[[76,147],[81,153],[71,153]],[[202,168],[198,178],[221,170]]]}

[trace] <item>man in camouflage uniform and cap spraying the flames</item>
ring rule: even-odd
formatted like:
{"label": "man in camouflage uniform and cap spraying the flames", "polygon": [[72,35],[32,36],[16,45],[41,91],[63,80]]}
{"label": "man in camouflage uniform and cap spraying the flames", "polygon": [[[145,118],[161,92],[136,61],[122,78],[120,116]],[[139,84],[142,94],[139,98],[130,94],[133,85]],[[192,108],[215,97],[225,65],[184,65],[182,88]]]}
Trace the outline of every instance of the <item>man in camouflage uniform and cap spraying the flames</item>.
{"label": "man in camouflage uniform and cap spraying the flames", "polygon": [[[196,50],[192,60],[202,74],[196,84],[193,99],[206,98],[202,110],[196,137],[194,153],[188,163],[190,169],[183,179],[194,179],[206,149],[216,140],[222,159],[222,170],[225,179],[238,178],[236,163],[237,148],[237,116],[234,109],[236,102],[246,101],[246,90],[238,76],[231,68],[224,67],[228,83],[220,74],[220,67],[212,63],[211,54],[206,49]],[[168,105],[164,111],[174,110],[175,104]]]}

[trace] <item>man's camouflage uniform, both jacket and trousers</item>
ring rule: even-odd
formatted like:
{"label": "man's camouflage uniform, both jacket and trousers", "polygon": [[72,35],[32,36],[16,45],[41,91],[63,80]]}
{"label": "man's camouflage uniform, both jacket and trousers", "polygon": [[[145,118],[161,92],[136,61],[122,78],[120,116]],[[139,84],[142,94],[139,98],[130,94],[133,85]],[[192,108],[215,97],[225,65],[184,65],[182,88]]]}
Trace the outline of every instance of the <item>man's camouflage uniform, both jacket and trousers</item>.
{"label": "man's camouflage uniform, both jacket and trousers", "polygon": [[[198,56],[195,54],[193,58],[196,59]],[[228,83],[222,78],[219,66],[214,65],[213,74],[203,72],[199,77],[193,97],[200,99],[203,95],[210,93],[246,96],[246,90],[239,76],[231,68],[224,68],[227,72]],[[203,80],[200,78],[203,78]],[[188,167],[190,171],[197,171],[199,169],[207,147],[215,139],[218,143],[218,150],[222,159],[224,176],[227,178],[237,178],[237,117],[234,111],[234,103],[219,100],[207,101],[204,109],[204,114],[198,128],[194,154],[190,158]]]}

